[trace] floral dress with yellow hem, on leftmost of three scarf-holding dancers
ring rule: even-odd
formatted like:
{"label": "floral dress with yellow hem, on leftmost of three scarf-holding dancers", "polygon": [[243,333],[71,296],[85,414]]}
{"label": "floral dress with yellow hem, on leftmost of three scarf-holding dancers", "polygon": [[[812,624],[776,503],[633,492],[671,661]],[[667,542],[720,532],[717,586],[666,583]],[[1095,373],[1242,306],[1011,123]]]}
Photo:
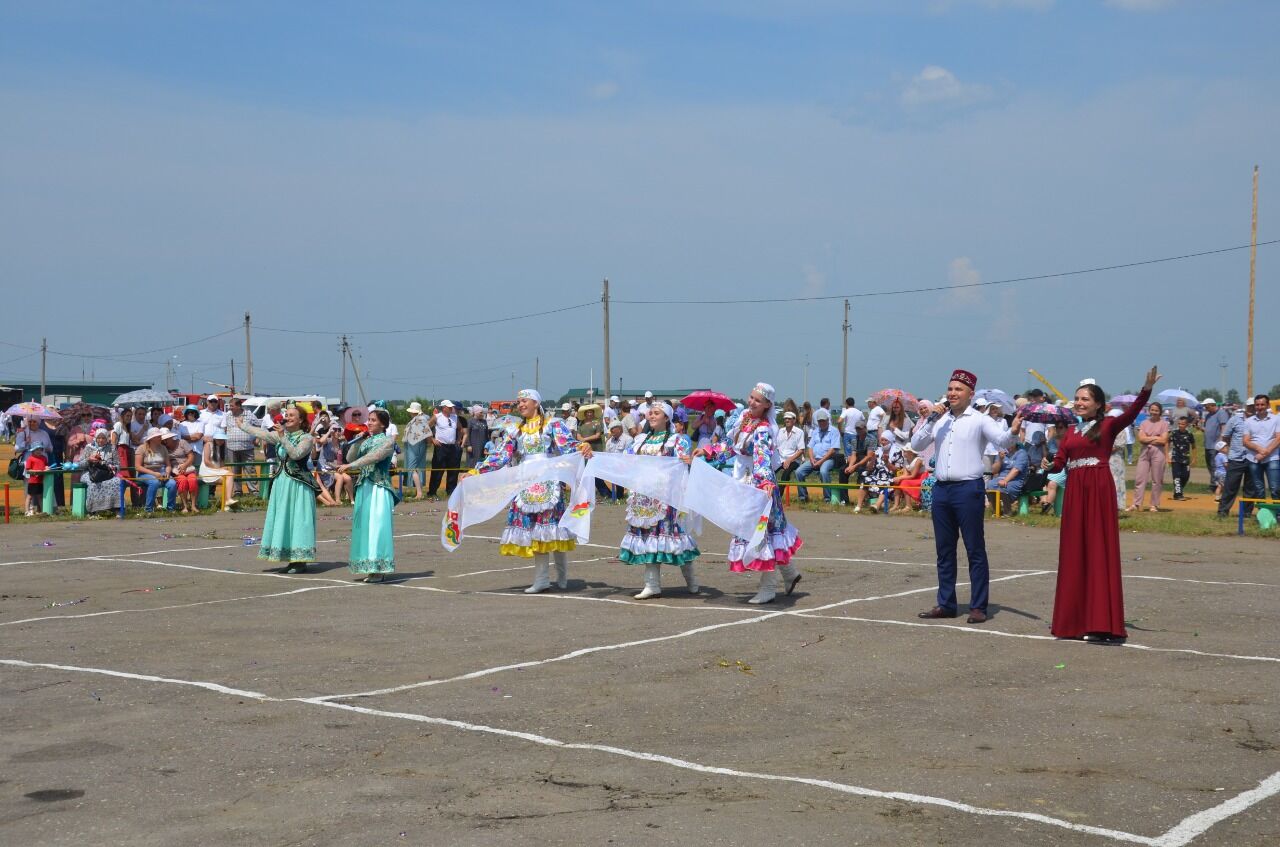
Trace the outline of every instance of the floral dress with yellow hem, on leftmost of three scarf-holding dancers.
{"label": "floral dress with yellow hem, on leftmost of three scarf-holding dancers", "polygon": [[[538,455],[562,455],[577,449],[577,439],[559,418],[541,415],[512,425],[493,450],[476,466],[490,473]],[[502,531],[502,555],[531,558],[541,553],[568,551],[577,546],[573,534],[559,526],[568,503],[568,486],[556,480],[534,482],[516,495],[507,509],[507,528]]]}

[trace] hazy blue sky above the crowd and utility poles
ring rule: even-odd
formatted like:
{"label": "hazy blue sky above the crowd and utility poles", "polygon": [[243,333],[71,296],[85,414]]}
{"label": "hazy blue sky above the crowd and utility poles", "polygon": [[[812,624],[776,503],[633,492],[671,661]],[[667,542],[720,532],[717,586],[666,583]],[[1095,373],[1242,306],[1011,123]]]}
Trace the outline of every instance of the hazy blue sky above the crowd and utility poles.
{"label": "hazy blue sky above the crowd and utility poles", "polygon": [[[0,3],[0,274],[42,307],[0,380],[490,398],[759,379],[840,392],[838,301],[1260,239],[1280,142],[1272,3]],[[1280,383],[1280,246],[1256,388]],[[1248,252],[854,301],[850,392],[966,366],[1243,389]],[[152,306],[147,306],[152,303]],[[88,305],[88,308],[83,306]],[[154,315],[159,320],[151,320]],[[120,334],[102,328],[133,325]],[[314,334],[269,331],[306,329]],[[13,347],[13,345],[17,347]],[[122,356],[159,348],[154,354]],[[23,357],[23,358],[19,358]],[[13,361],[13,360],[18,361]],[[128,361],[122,361],[128,360]],[[349,394],[353,389],[349,389]]]}

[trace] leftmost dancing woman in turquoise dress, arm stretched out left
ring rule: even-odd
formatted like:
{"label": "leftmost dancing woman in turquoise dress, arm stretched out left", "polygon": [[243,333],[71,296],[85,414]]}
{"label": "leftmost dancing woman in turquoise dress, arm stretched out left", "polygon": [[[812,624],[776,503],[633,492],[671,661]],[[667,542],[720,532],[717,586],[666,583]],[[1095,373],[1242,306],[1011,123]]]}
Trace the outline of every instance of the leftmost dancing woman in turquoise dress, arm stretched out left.
{"label": "leftmost dancing woman in turquoise dress, arm stretched out left", "polygon": [[284,573],[306,573],[307,562],[316,560],[316,493],[319,486],[307,459],[311,435],[302,409],[284,409],[284,431],[264,430],[242,417],[232,418],[244,432],[276,447],[283,461],[271,471],[271,498],[266,504],[262,544],[257,558],[284,562]]}

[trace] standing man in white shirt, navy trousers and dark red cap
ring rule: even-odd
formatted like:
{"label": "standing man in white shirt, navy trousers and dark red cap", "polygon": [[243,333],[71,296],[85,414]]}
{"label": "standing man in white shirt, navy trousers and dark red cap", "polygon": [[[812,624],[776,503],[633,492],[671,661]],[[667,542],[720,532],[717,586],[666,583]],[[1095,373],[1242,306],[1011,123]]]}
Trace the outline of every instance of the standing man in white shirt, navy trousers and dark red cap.
{"label": "standing man in white shirt, navy trousers and dark red cap", "polygon": [[982,479],[982,452],[992,443],[1000,449],[1012,444],[1021,430],[1021,416],[1007,430],[991,416],[973,408],[978,377],[956,370],[947,383],[946,409],[937,409],[911,436],[911,449],[920,452],[936,445],[933,485],[933,539],[938,553],[938,599],[922,618],[956,617],[956,541],[964,536],[969,558],[969,623],[987,619],[989,576],[987,541],[983,536],[986,484]]}

